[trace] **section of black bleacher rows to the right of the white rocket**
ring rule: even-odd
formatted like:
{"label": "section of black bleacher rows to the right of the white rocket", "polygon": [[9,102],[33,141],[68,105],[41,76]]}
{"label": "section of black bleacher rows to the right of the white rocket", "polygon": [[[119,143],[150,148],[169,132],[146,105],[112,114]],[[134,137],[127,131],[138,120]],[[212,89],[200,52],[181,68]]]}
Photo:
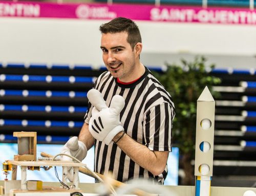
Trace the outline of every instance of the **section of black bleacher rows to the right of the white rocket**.
{"label": "section of black bleacher rows to the right of the white rocket", "polygon": [[254,69],[216,69],[211,73],[222,79],[214,87],[221,93],[216,100],[214,175],[218,180],[212,182],[214,186],[220,185],[220,177],[248,180],[256,173],[255,74]]}

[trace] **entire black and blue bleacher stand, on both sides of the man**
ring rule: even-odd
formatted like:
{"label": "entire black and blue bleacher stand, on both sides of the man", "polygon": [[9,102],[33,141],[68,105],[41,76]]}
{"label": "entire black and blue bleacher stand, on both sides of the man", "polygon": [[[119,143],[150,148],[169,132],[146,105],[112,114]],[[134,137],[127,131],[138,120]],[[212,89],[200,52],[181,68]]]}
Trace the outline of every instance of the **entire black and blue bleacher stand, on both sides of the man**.
{"label": "entire black and blue bleacher stand, on both sides of the man", "polygon": [[[165,68],[150,68],[164,72]],[[0,142],[16,142],[13,132],[36,131],[38,143],[64,144],[78,135],[87,111],[87,91],[106,69],[89,66],[0,63]],[[214,176],[256,173],[255,70],[215,69]],[[175,141],[174,141],[175,143]],[[218,181],[215,181],[218,179]]]}

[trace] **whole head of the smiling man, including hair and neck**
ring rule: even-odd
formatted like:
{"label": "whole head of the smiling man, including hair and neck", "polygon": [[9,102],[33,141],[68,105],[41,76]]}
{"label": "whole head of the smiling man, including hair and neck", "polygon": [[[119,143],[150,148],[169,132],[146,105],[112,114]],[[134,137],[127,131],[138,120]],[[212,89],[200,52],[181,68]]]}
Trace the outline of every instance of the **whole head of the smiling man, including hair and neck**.
{"label": "whole head of the smiling man, including hair and neck", "polygon": [[115,18],[100,26],[102,59],[111,75],[131,82],[144,73],[140,62],[142,50],[138,26],[127,18]]}

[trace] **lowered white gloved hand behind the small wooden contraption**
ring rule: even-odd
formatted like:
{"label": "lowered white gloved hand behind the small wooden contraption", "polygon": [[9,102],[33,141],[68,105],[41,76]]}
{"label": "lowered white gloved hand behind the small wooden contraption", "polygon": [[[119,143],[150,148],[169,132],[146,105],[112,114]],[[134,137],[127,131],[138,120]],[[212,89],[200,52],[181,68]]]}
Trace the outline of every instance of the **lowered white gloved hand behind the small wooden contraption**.
{"label": "lowered white gloved hand behind the small wooden contraption", "polygon": [[[72,157],[77,158],[79,161],[82,161],[87,155],[86,145],[78,141],[77,137],[70,138],[67,143],[61,148],[60,153],[71,155]],[[73,161],[68,156],[61,156],[62,161]],[[68,179],[70,182],[73,182],[73,167],[68,168]]]}

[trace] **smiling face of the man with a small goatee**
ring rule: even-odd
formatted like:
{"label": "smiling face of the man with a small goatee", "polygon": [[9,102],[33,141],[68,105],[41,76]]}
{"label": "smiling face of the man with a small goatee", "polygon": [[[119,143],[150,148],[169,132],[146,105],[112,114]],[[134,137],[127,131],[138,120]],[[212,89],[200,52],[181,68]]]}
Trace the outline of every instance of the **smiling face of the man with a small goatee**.
{"label": "smiling face of the man with a small goatee", "polygon": [[[135,72],[135,50],[127,42],[127,32],[106,33],[101,36],[102,58],[111,75],[130,82]],[[135,78],[136,79],[136,78]]]}

